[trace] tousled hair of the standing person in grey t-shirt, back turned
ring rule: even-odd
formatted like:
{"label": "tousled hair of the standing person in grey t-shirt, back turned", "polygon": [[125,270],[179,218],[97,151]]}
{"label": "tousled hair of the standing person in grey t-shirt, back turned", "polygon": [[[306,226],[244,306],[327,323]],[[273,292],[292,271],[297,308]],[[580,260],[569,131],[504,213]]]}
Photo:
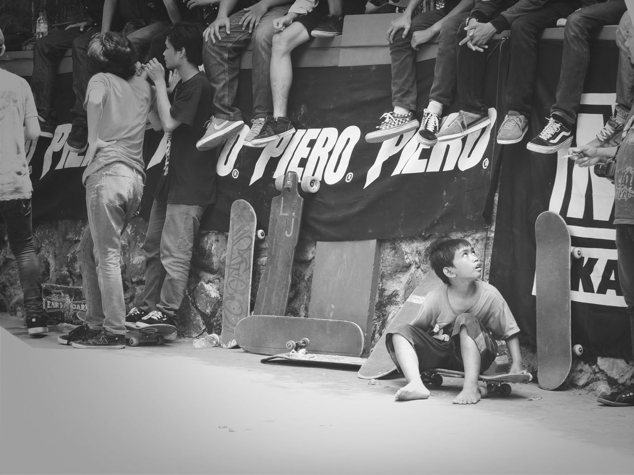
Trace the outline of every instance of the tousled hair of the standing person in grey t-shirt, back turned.
{"label": "tousled hair of the standing person in grey t-shirt, back turned", "polygon": [[88,45],[88,68],[91,75],[112,73],[130,79],[136,72],[136,49],[120,33],[95,34]]}

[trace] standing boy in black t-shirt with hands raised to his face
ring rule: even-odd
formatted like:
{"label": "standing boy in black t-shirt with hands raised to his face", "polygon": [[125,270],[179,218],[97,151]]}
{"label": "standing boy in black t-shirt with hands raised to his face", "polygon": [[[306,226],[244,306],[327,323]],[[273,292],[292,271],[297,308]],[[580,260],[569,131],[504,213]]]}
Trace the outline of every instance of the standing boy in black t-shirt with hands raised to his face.
{"label": "standing boy in black t-shirt with hands raised to his face", "polygon": [[205,208],[216,201],[216,158],[196,140],[211,115],[211,87],[202,64],[202,31],[196,23],[173,25],[165,40],[165,65],[178,73],[172,98],[156,58],[144,66],[156,85],[157,112],[168,134],[165,167],[145,236],[145,297],[126,317],[128,326],[172,324],[190,273],[191,252]]}

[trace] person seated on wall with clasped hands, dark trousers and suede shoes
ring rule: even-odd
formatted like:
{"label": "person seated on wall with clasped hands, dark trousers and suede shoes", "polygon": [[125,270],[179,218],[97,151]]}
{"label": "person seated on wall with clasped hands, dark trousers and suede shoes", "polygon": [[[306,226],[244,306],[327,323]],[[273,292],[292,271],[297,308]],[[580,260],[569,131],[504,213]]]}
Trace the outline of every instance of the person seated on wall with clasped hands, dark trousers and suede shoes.
{"label": "person seated on wall with clasped hands, dark trousers and suede shoes", "polygon": [[[544,28],[555,27],[579,6],[576,0],[511,0],[475,3],[467,28],[458,32],[458,99],[460,111],[438,134],[438,141],[464,137],[486,127],[488,106],[484,103],[484,77],[489,41],[510,28],[507,79],[508,113],[498,132],[498,144],[521,142],[528,130],[537,68],[537,41]],[[501,10],[506,8],[505,10]],[[493,49],[493,48],[491,48]]]}

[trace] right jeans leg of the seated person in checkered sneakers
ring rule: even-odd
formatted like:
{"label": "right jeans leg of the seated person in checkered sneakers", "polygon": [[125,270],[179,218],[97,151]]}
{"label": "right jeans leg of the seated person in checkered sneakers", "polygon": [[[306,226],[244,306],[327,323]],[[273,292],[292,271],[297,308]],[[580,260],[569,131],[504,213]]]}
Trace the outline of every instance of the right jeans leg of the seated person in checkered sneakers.
{"label": "right jeans leg of the seated person in checkered sneakers", "polygon": [[470,12],[459,13],[443,23],[438,37],[438,53],[434,67],[434,82],[429,99],[448,107],[453,103],[456,89],[456,61],[458,57],[456,35],[465,27]]}

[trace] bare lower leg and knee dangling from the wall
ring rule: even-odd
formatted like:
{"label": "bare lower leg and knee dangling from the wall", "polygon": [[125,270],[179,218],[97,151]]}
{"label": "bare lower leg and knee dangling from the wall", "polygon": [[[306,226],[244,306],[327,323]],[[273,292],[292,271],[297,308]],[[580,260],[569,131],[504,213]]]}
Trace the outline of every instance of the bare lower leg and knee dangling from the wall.
{"label": "bare lower leg and knee dangling from the wall", "polygon": [[271,93],[273,95],[273,115],[287,117],[288,94],[293,84],[293,63],[290,53],[310,39],[301,23],[291,23],[273,36],[271,47]]}

